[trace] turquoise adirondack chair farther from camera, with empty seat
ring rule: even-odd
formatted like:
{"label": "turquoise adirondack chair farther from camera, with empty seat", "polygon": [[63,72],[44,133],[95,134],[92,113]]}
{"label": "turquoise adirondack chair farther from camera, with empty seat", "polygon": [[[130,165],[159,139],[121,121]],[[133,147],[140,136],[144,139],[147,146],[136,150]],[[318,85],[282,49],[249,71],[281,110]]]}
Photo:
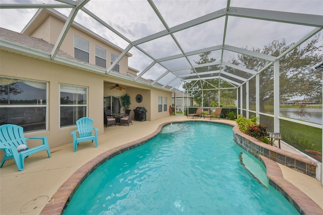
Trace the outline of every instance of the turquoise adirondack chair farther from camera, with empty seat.
{"label": "turquoise adirondack chair farther from camera, with empty seat", "polygon": [[[97,133],[98,129],[93,128],[93,120],[88,117],[83,117],[76,121],[77,130],[72,131],[71,134],[73,136],[73,145],[74,145],[74,152],[76,151],[77,145],[79,142],[94,140],[95,147],[97,147]],[[94,135],[92,131],[94,130]],[[78,137],[76,133],[78,132]]]}

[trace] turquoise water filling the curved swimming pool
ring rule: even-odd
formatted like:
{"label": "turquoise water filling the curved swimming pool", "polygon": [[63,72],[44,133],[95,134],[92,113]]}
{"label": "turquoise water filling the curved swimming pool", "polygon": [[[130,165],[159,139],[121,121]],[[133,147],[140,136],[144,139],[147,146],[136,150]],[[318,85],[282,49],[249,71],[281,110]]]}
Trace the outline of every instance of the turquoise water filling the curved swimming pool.
{"label": "turquoise water filling the curved swimming pool", "polygon": [[165,126],[98,167],[64,214],[298,214],[232,137],[221,124]]}

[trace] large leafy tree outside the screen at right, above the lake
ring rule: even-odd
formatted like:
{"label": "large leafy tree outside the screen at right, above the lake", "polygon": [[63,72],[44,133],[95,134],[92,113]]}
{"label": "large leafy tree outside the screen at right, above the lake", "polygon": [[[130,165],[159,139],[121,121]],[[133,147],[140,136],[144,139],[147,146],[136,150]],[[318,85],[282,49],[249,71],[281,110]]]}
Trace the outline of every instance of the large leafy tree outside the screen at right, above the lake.
{"label": "large leafy tree outside the screen at right, above the lake", "polygon": [[[281,99],[296,96],[317,97],[322,91],[322,73],[313,68],[322,59],[322,45],[318,45],[320,36],[316,35],[311,40],[289,52],[280,63],[280,97]],[[285,39],[274,40],[262,49],[251,48],[252,51],[278,57],[292,47],[294,43],[287,44]],[[259,71],[268,62],[246,55],[238,55],[232,62],[235,65]],[[234,72],[233,72],[234,74]],[[247,77],[248,75],[246,75]],[[255,86],[250,86],[249,88]],[[269,67],[260,73],[260,112],[264,112],[264,104],[274,97],[274,68]],[[254,90],[253,90],[254,91]],[[255,92],[249,94],[255,96]]]}

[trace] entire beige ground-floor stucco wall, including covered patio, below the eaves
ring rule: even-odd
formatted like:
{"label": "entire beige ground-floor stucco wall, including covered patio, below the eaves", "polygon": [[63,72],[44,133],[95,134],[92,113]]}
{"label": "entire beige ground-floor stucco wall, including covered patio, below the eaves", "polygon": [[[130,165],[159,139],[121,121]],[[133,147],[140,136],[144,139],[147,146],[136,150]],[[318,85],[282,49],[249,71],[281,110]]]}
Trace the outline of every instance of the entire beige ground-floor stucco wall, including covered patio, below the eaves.
{"label": "entire beige ground-floor stucco wall, including covered patio, below the eaves", "polygon": [[[59,84],[69,84],[88,87],[88,117],[94,120],[94,127],[103,134],[103,96],[114,95],[120,97],[128,94],[131,98],[130,109],[144,106],[147,109],[146,120],[152,121],[167,117],[167,112],[158,113],[158,96],[168,97],[168,106],[171,104],[171,92],[151,88],[147,85],[111,77],[105,74],[96,74],[80,69],[45,62],[30,57],[24,57],[0,50],[0,75],[4,77],[29,79],[48,82],[47,130],[26,133],[25,136],[48,136],[49,147],[57,147],[72,142],[71,131],[76,126],[60,128],[59,126]],[[111,89],[116,83],[126,87],[126,90]],[[137,94],[143,96],[143,101],[137,103]],[[32,146],[32,145],[31,145]]]}

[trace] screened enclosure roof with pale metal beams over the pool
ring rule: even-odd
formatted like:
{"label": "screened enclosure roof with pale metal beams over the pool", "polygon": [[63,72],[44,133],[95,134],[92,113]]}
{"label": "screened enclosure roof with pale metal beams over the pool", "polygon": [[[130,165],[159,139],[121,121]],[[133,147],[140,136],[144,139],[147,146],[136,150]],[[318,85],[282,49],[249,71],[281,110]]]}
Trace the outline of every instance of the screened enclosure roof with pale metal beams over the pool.
{"label": "screened enclosure roof with pale metal beams over the pool", "polygon": [[[44,8],[55,10],[65,21],[50,51],[51,60],[59,58],[60,46],[71,25],[79,25],[122,51],[106,74],[111,74],[122,57],[128,55],[129,66],[139,71],[128,80],[151,80],[146,84],[171,91],[181,89],[187,81],[209,79],[221,79],[239,87],[323,28],[321,0],[279,4],[238,0],[3,0],[0,26],[16,32],[28,31],[38,9]],[[280,56],[252,51],[281,39],[293,45]],[[201,63],[200,55],[207,52],[213,60]],[[238,55],[262,59],[265,66],[253,71],[230,63]],[[217,70],[210,69],[214,65]]]}

